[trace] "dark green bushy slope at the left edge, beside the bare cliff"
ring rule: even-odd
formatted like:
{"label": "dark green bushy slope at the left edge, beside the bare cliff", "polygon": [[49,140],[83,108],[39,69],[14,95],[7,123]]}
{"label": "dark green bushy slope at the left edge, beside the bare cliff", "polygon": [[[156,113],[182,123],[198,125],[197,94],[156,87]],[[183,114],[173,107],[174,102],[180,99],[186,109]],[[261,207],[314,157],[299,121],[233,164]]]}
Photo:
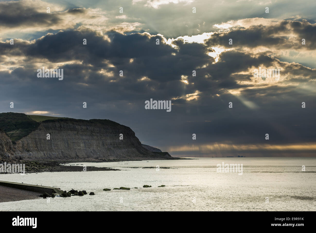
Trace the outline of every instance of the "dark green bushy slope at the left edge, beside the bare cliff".
{"label": "dark green bushy slope at the left edge, beside the bare cliff", "polygon": [[0,113],[0,128],[9,135],[12,141],[17,141],[29,135],[39,125],[39,122],[32,120],[24,113]]}

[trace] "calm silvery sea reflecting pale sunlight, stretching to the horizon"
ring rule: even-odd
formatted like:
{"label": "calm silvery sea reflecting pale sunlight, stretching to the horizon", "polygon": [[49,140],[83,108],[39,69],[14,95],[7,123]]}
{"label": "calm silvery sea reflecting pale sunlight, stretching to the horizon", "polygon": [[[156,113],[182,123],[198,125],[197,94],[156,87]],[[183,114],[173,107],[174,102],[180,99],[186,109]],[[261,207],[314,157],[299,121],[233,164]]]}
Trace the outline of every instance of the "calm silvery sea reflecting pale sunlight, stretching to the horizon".
{"label": "calm silvery sea reflecting pale sunlight, stretching to the horizon", "polygon": [[[243,164],[243,174],[218,173],[216,165],[222,162]],[[74,188],[95,195],[50,198],[49,203],[43,198],[6,202],[1,203],[0,210],[316,211],[316,158],[198,158],[80,164],[121,171],[1,174],[0,180],[55,186],[67,191]],[[157,165],[173,169],[158,170]],[[160,185],[166,187],[157,187]],[[121,186],[138,189],[113,190]],[[112,190],[102,191],[104,188]]]}

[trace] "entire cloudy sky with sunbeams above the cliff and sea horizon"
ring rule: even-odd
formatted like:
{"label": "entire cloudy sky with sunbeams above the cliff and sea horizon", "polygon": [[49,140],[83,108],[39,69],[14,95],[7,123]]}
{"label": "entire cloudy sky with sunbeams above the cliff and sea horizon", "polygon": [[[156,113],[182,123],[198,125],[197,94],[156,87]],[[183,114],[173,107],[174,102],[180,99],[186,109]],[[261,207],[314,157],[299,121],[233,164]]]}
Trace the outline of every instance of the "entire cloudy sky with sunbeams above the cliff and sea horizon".
{"label": "entire cloudy sky with sunbeams above the cliff and sea horizon", "polygon": [[[315,10],[315,1],[0,1],[0,112],[110,119],[177,157],[315,156]],[[38,77],[42,67],[63,79]],[[171,111],[145,109],[150,99]]]}

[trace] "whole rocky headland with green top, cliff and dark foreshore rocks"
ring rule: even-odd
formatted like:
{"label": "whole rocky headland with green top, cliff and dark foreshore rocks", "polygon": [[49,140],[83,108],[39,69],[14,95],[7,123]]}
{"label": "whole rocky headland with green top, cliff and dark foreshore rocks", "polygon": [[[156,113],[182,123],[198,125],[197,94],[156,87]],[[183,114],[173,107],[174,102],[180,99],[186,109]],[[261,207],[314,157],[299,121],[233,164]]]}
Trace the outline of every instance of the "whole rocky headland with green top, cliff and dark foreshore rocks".
{"label": "whole rocky headland with green top, cliff and dark foreshore rocks", "polygon": [[69,162],[166,159],[178,158],[142,145],[131,128],[111,120],[0,113],[0,163],[25,163],[27,172],[82,170],[59,165]]}

